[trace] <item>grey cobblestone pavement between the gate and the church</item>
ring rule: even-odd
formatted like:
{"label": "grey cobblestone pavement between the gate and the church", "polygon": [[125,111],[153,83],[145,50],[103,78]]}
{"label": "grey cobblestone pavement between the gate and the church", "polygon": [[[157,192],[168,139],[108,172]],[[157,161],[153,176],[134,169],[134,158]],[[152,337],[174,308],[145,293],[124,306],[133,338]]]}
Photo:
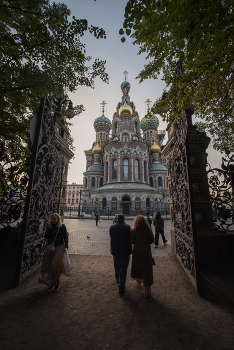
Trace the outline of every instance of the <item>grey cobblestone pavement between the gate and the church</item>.
{"label": "grey cobblestone pavement between the gate and the church", "polygon": [[[133,228],[133,220],[126,219],[125,222],[130,224]],[[167,246],[163,245],[160,236],[159,247],[154,248],[154,245],[151,245],[153,256],[171,252],[171,221],[165,220],[164,223],[164,233],[167,239]],[[109,228],[112,225],[112,220],[103,220],[102,223],[98,224],[98,227],[96,227],[94,219],[64,219],[64,224],[69,232],[69,254],[110,255]]]}

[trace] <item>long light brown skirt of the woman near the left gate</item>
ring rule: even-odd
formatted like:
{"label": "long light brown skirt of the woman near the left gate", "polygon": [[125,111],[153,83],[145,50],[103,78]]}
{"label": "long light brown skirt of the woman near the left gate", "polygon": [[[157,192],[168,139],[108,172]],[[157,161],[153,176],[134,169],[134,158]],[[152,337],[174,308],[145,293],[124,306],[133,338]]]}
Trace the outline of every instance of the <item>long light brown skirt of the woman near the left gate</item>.
{"label": "long light brown skirt of the woman near the left gate", "polygon": [[38,283],[44,283],[47,286],[58,283],[61,273],[64,273],[64,254],[64,244],[56,247],[53,253],[44,254]]}

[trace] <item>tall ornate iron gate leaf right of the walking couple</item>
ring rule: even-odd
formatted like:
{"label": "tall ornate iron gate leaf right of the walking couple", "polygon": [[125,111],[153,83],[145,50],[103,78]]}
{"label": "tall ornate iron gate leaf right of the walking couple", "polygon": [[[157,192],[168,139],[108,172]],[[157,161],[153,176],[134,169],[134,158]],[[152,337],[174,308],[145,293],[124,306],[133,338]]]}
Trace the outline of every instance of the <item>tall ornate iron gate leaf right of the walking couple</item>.
{"label": "tall ornate iron gate leaf right of the walking couple", "polygon": [[169,172],[171,176],[176,255],[194,287],[198,289],[186,113],[174,122],[173,127],[173,150],[169,161]]}

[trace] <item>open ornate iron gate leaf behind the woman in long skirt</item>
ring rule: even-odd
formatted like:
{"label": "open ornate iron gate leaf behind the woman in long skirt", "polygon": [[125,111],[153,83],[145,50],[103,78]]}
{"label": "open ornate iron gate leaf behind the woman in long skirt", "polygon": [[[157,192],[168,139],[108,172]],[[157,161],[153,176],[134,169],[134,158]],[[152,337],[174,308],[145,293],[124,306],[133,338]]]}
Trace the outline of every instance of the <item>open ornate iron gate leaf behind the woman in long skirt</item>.
{"label": "open ornate iron gate leaf behind the woman in long skirt", "polygon": [[49,215],[57,212],[61,191],[62,159],[55,137],[50,103],[42,97],[33,137],[33,154],[22,223],[17,284],[40,267]]}

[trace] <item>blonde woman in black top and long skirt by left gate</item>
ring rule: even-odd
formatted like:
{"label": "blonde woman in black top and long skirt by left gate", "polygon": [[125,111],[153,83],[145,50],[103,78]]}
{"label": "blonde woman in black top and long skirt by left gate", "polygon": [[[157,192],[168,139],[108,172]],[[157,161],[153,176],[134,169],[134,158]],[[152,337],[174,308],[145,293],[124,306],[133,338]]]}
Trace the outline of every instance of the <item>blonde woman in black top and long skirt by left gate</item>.
{"label": "blonde woman in black top and long skirt by left gate", "polygon": [[58,291],[59,278],[61,273],[64,273],[65,248],[68,249],[67,229],[62,224],[59,214],[54,213],[50,216],[45,238],[48,245],[54,243],[55,250],[44,254],[38,282],[46,284],[48,292]]}

